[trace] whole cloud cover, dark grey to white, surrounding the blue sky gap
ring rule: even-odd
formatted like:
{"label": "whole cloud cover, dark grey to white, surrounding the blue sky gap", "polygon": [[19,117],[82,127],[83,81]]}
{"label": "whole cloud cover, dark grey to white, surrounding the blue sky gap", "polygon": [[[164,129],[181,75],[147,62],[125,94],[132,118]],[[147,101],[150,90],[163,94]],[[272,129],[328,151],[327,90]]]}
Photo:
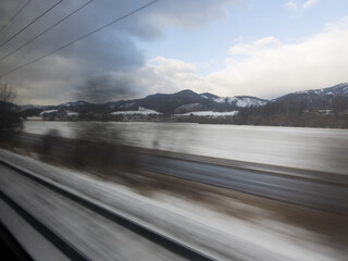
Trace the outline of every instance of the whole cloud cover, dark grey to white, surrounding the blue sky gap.
{"label": "whole cloud cover, dark grey to white, surrounding the blue sky gap", "polygon": [[[11,37],[58,0],[33,2],[1,32],[0,45],[7,39],[3,38],[5,35]],[[85,2],[63,1],[49,15],[0,48],[0,59]],[[54,50],[147,2],[95,0],[49,34],[0,61],[0,73]],[[83,41],[7,75],[3,80],[16,87],[17,102],[22,104],[57,104],[77,99],[103,102],[186,88],[219,96],[275,98],[289,91],[347,82],[347,17],[327,24],[321,32],[291,45],[270,35],[232,46],[224,67],[204,77],[198,75],[198,65],[175,58],[147,58],[146,50],[141,49],[141,42],[161,39],[170,28],[198,30],[223,20],[227,15],[227,7],[247,2],[161,0]],[[2,23],[18,9],[20,3],[23,4],[24,0],[1,1]],[[295,7],[287,3],[289,9]],[[306,5],[309,9],[315,3],[318,1],[302,1],[301,8]],[[84,94],[94,88],[98,90],[98,97],[90,98]]]}

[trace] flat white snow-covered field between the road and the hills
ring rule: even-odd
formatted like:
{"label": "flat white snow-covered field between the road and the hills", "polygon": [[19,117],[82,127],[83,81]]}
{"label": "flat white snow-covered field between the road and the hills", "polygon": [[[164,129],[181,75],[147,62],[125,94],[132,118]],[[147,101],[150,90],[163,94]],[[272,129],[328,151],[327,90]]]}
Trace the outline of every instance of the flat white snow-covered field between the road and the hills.
{"label": "flat white snow-covered field between the road and the hills", "polygon": [[91,125],[112,142],[182,153],[348,174],[347,129],[194,123],[25,122],[25,132],[78,137]]}

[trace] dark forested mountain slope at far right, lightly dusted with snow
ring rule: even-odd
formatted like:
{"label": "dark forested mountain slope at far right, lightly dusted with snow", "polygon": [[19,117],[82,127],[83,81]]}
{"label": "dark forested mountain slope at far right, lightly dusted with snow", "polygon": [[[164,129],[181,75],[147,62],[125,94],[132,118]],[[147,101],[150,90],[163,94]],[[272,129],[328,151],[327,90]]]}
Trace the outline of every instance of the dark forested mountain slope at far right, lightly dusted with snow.
{"label": "dark forested mountain slope at far right, lightly dusted with snow", "polygon": [[244,108],[234,124],[348,128],[348,84],[288,94]]}

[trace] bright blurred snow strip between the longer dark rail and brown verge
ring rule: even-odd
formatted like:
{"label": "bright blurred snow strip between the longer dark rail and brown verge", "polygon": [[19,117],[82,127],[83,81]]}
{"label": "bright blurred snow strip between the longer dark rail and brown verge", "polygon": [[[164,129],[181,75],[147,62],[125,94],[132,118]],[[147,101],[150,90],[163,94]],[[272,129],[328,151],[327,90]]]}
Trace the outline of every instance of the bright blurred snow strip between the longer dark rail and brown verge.
{"label": "bright blurred snow strip between the longer dark rail and brown verge", "polygon": [[[0,150],[0,158],[100,201],[217,260],[331,261],[347,257],[347,251],[341,252],[327,238],[276,222],[264,210],[254,207],[250,211],[256,219],[248,222],[164,192],[148,198],[125,186],[86,173],[52,167],[9,151]],[[247,204],[244,207],[248,208]]]}

